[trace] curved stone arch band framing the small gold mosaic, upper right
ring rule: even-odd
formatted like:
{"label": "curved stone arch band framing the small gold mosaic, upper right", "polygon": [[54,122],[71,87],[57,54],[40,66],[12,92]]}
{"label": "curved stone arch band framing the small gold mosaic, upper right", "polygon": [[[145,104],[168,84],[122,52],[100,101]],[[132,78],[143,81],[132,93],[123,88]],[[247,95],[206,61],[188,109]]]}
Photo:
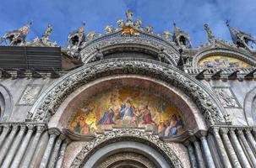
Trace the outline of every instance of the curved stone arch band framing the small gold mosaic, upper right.
{"label": "curved stone arch band framing the small gold mosaic, upper right", "polygon": [[228,50],[228,49],[210,49],[210,50],[203,50],[203,51],[199,52],[198,55],[195,55],[193,57],[193,63],[192,63],[193,67],[195,67],[195,68],[198,67],[199,60],[202,60],[211,55],[229,56],[232,58],[237,58],[238,60],[242,60],[251,66],[256,66],[255,59],[246,53],[238,52],[235,50]]}

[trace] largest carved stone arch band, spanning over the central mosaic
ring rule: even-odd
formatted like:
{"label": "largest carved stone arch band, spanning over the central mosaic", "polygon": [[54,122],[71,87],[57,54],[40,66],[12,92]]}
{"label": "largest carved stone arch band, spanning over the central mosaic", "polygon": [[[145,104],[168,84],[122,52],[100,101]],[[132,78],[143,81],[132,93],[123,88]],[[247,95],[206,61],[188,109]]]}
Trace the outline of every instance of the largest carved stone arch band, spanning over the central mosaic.
{"label": "largest carved stone arch band, spanning over the central mosaic", "polygon": [[134,59],[101,60],[68,73],[39,97],[30,110],[32,115],[28,117],[36,121],[49,121],[71,92],[96,78],[118,74],[145,75],[166,81],[191,97],[209,125],[226,122],[223,118],[225,109],[221,106],[221,102],[199,81],[178,71],[175,67],[157,61]]}

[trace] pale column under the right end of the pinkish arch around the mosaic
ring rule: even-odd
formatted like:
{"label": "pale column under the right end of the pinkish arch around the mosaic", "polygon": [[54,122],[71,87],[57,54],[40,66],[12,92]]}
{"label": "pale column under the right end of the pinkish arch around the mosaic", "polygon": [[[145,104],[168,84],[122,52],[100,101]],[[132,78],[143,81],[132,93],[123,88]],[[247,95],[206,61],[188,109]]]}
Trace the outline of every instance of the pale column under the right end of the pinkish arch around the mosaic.
{"label": "pale column under the right end of the pinkish arch around the mosaic", "polygon": [[201,140],[201,143],[202,143],[202,146],[203,146],[207,167],[208,168],[215,168],[215,162],[212,159],[212,156],[210,154],[210,148],[209,148],[209,145],[207,143],[205,135],[202,135],[200,137],[200,140]]}

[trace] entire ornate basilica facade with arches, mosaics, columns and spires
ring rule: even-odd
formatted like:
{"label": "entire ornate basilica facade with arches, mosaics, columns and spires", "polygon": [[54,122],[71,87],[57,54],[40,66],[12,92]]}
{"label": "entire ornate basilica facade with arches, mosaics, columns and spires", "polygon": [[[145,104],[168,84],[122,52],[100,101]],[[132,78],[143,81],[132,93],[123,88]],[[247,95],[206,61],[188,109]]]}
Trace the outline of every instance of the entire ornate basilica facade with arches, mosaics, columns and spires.
{"label": "entire ornate basilica facade with arches, mosaics, columns and spires", "polygon": [[132,11],[68,45],[32,23],[0,42],[0,166],[256,167],[256,39],[193,47],[174,24],[154,33]]}

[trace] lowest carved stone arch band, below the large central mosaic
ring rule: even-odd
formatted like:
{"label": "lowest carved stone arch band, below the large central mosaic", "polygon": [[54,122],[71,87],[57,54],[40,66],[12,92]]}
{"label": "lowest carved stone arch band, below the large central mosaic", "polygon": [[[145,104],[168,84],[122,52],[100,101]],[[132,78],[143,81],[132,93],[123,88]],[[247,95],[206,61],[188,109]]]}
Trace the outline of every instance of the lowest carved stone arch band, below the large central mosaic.
{"label": "lowest carved stone arch band, below the large central mosaic", "polygon": [[[83,166],[86,160],[93,155],[95,150],[100,149],[106,144],[112,144],[117,141],[122,141],[123,139],[149,144],[165,157],[166,161],[170,164],[170,167],[182,167],[182,163],[177,158],[177,155],[172,151],[171,148],[168,147],[168,145],[159,139],[157,135],[146,134],[144,131],[139,131],[136,129],[117,129],[106,131],[104,134],[97,134],[95,139],[90,141],[89,144],[80,150],[70,167],[75,168]],[[103,164],[105,163],[103,162]]]}

